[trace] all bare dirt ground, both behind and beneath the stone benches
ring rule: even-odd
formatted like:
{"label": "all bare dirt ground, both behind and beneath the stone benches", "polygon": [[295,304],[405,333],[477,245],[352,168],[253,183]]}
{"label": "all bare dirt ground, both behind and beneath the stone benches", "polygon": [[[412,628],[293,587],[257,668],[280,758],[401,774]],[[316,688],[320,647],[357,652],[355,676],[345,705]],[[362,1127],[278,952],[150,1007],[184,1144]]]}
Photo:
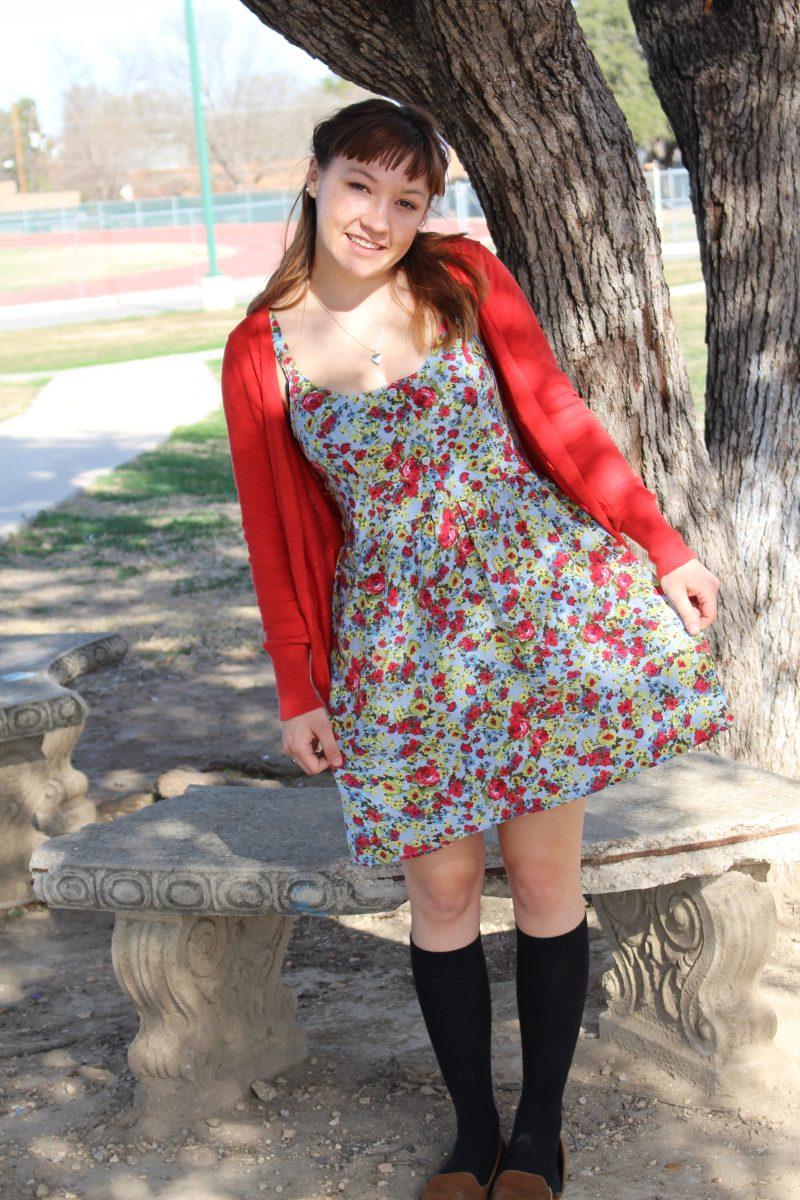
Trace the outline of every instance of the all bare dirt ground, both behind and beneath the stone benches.
{"label": "all bare dirt ground, both behind and beneath the stone benches", "polygon": [[[178,564],[126,581],[102,566],[90,577],[68,565],[4,572],[8,631],[119,631],[131,642],[118,667],[77,684],[91,712],[74,763],[103,820],[150,799],[160,779],[163,791],[164,773],[181,766],[301,782],[281,751],[241,552],[215,553],[191,572]],[[204,569],[234,583],[175,589],[176,577],[203,578]],[[597,1037],[610,955],[589,907],[590,994],[564,1108],[566,1196],[800,1198],[800,892],[783,878],[775,894],[778,936],[763,984],[778,1033],[751,1072],[711,1096]],[[130,1124],[126,1046],[137,1021],[112,971],[112,924],[110,914],[38,904],[0,920],[0,1200],[420,1195],[453,1122],[413,990],[408,905],[297,917],[284,978],[309,1057],[271,1081],[271,1099],[252,1094],[157,1142]],[[507,1133],[519,1090],[510,901],[485,898],[482,932]]]}

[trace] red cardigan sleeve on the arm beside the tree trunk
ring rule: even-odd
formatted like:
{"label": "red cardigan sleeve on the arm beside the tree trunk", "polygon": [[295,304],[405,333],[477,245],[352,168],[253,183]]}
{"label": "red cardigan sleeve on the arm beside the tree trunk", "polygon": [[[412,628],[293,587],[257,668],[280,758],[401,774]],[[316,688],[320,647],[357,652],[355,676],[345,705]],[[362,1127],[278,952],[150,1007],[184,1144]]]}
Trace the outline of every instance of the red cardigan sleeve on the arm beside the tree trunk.
{"label": "red cardigan sleeve on the arm beside the tree trunk", "polygon": [[506,343],[530,380],[536,400],[614,528],[643,546],[658,578],[696,551],[662,515],[657,497],[578,395],[558,365],[534,310],[509,268],[487,247],[483,260],[491,302]]}

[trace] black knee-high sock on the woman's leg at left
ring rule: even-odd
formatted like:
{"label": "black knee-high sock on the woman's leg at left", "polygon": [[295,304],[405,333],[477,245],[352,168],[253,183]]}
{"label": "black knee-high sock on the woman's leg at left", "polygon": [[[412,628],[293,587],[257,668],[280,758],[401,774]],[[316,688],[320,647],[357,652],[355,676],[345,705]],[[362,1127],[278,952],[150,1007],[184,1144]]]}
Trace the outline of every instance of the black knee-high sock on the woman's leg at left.
{"label": "black knee-high sock on the woman's leg at left", "polygon": [[471,1171],[485,1187],[500,1120],[492,1093],[492,998],[483,942],[425,950],[409,937],[411,974],[428,1037],[456,1109],[456,1144],[438,1174]]}

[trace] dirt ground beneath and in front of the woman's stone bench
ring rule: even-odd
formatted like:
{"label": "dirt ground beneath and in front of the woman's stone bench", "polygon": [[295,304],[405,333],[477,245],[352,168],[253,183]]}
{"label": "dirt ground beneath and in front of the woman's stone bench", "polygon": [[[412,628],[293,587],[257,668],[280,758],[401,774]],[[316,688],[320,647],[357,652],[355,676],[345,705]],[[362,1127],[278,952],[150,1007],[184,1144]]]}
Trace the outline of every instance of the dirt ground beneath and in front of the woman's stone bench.
{"label": "dirt ground beneath and in front of the woman's stone bench", "polygon": [[[591,983],[567,1081],[565,1195],[575,1200],[782,1200],[800,1195],[796,1085],[800,938],[782,922],[765,992],[778,1010],[771,1090],[711,1097],[597,1037],[609,965],[589,908]],[[110,965],[113,918],[41,905],[0,923],[5,1094],[0,1195],[245,1200],[420,1195],[453,1126],[408,966],[410,918],[299,917],[285,979],[309,1057],[229,1114],[158,1142],[130,1129],[126,1046],[136,1013]],[[519,1090],[510,901],[483,900],[498,1106]],[[782,1066],[782,1070],[780,1069]]]}

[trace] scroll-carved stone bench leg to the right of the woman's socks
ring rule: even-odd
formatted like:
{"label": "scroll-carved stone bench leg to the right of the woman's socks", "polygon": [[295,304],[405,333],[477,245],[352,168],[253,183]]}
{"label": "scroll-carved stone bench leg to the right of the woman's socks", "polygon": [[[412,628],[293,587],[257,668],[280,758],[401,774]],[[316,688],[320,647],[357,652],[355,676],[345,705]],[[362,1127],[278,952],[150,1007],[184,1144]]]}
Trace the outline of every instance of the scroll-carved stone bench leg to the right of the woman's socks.
{"label": "scroll-carved stone bench leg to the right of the woman's socks", "polygon": [[614,955],[600,1036],[714,1088],[777,1030],[758,977],[774,946],[769,864],[593,895]]}

